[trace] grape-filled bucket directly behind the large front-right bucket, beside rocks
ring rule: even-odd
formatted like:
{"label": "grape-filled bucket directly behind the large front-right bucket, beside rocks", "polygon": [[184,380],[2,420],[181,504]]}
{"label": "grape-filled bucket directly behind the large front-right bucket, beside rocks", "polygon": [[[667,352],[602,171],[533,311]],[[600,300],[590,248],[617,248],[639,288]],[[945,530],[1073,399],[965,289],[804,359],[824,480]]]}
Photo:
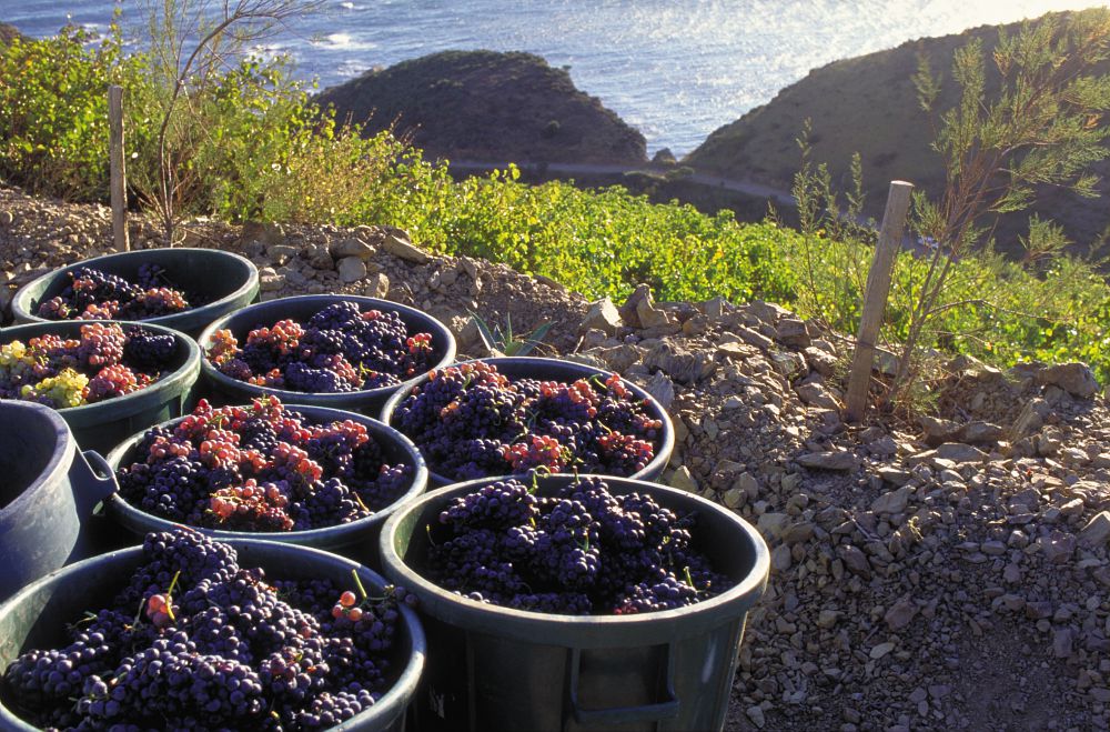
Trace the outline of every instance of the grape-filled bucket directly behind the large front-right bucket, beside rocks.
{"label": "grape-filled bucket directly behind the large front-right bucket, beside rocks", "polygon": [[382,420],[424,454],[433,485],[534,470],[652,480],[670,459],[670,418],[646,391],[579,363],[496,358],[436,369]]}

